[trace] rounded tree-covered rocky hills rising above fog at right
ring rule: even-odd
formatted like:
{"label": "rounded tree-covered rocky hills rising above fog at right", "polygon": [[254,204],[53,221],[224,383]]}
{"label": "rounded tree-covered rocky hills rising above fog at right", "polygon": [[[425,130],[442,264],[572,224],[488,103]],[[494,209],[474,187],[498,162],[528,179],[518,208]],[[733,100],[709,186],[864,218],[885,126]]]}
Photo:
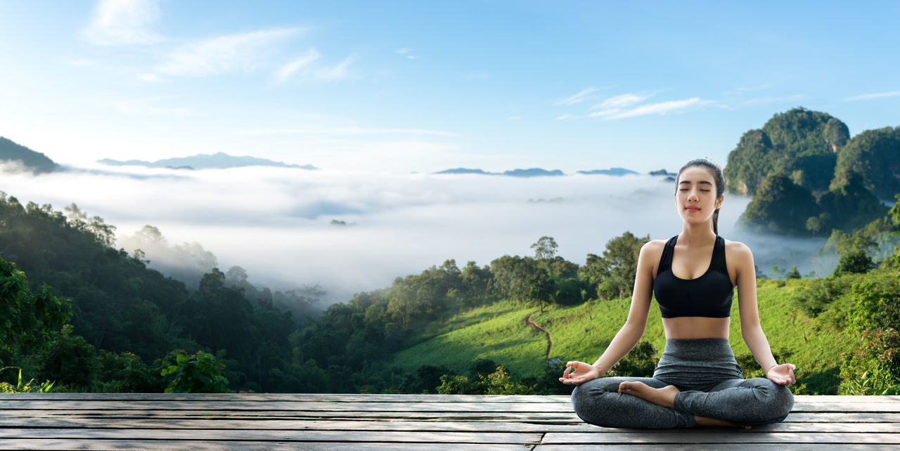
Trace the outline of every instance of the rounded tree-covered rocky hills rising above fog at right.
{"label": "rounded tree-covered rocky hills rising above fog at right", "polygon": [[747,131],[728,155],[728,192],[751,195],[741,224],[764,233],[852,234],[885,217],[900,192],[900,127],[850,137],[847,125],[803,108]]}

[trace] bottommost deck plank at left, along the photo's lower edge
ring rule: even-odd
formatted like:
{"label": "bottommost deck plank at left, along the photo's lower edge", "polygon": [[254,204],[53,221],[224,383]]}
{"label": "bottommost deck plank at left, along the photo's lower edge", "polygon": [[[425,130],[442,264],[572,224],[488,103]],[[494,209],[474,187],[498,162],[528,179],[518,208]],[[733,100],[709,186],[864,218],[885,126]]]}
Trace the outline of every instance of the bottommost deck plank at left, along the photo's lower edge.
{"label": "bottommost deck plank at left, along the photo's lower edge", "polygon": [[[203,441],[194,440],[132,440],[113,438],[93,440],[84,438],[12,438],[0,440],[0,449],[235,449],[266,450],[298,448],[296,442],[255,442],[255,441]],[[339,443],[303,442],[302,449],[314,451],[338,450],[392,450],[410,449],[422,451],[458,451],[456,443]],[[531,445],[491,445],[478,446],[479,451],[526,451]]]}

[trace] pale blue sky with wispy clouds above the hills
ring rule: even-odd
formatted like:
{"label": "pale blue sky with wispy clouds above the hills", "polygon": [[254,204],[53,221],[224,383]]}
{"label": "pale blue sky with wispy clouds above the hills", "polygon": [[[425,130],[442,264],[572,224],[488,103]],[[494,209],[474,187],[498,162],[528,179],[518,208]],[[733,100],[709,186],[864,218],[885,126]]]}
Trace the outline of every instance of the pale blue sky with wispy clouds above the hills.
{"label": "pale blue sky with wispy clouds above the hills", "polygon": [[900,125],[900,4],[0,2],[0,136],[65,164],[725,164],[795,106]]}

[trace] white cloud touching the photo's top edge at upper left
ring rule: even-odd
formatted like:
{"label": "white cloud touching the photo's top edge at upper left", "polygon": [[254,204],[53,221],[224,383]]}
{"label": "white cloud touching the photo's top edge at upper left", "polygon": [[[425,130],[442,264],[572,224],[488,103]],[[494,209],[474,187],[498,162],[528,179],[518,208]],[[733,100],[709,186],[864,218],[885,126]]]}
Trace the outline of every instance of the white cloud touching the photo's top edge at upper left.
{"label": "white cloud touching the photo's top edge at upper left", "polygon": [[97,45],[153,44],[162,38],[148,25],[158,18],[156,0],[102,0],[82,36]]}

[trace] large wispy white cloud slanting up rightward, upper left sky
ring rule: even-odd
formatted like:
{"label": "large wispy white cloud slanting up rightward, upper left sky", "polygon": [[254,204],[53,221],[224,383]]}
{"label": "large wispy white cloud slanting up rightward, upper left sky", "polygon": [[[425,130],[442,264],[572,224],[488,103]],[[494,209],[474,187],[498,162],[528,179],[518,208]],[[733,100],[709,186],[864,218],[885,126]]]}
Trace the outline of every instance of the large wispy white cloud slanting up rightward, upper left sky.
{"label": "large wispy white cloud slanting up rightward, upper left sky", "polygon": [[250,72],[265,64],[270,46],[298,33],[296,28],[263,30],[185,44],[169,54],[157,70],[187,76]]}

